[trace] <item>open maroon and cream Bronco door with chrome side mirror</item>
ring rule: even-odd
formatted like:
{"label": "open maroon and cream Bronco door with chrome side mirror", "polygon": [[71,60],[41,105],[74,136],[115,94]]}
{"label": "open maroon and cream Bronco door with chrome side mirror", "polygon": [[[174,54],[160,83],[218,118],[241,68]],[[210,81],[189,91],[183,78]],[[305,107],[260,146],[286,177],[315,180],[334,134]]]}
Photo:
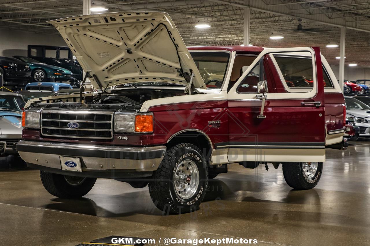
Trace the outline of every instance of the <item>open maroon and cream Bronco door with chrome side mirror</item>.
{"label": "open maroon and cream Bronco door with chrome side mirror", "polygon": [[[313,75],[310,78],[312,80],[307,78],[306,80],[308,86],[311,87],[300,87],[298,90],[293,89],[293,92],[267,92],[263,112],[266,118],[258,119],[262,100],[256,99],[256,96],[261,94],[238,93],[238,88],[241,85],[249,86],[248,83],[243,84],[244,81],[248,81],[245,78],[248,77],[249,72],[255,68],[261,59],[263,63],[264,58],[273,59],[271,55],[281,55],[286,52],[300,52],[299,54],[310,52]],[[307,64],[307,61],[305,62]],[[317,71],[317,66],[320,67],[319,71]],[[297,67],[301,69],[301,67]],[[270,69],[278,70],[279,66],[265,67],[265,74],[270,73],[268,71]],[[293,70],[293,68],[289,69]],[[279,71],[279,74],[283,73]],[[307,73],[305,76],[307,76]],[[318,49],[266,49],[229,91],[229,142],[221,143],[216,147],[228,148],[228,158],[231,162],[324,161],[325,113],[322,78],[320,51]],[[268,81],[268,86],[275,85],[277,82],[282,83],[282,81],[274,81],[274,83]],[[313,102],[320,102],[320,105]]]}

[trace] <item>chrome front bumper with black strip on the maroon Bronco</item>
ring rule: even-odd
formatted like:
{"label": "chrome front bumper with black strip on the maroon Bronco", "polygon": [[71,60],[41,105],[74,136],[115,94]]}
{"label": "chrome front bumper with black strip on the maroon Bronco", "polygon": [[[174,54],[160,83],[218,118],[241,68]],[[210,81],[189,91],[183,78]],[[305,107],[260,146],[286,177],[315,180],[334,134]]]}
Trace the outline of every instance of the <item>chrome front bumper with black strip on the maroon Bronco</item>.
{"label": "chrome front bumper with black strip on the maroon Bronco", "polygon": [[[49,168],[53,168],[60,172],[60,156],[65,156],[80,158],[82,173],[145,172],[157,170],[164,157],[166,146],[93,146],[21,140],[17,143],[17,151],[27,163],[46,167],[49,171],[51,170]],[[74,175],[75,173],[71,171],[63,172],[66,172],[67,175]]]}

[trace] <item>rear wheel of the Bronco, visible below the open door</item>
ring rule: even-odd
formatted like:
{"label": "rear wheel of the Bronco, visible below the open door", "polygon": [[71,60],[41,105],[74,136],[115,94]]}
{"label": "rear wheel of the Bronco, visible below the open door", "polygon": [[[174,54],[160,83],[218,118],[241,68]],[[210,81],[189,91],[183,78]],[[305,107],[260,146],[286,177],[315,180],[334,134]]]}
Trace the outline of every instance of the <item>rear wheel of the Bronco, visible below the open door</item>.
{"label": "rear wheel of the Bronco, visible below the open door", "polygon": [[286,183],[294,189],[314,188],[320,181],[322,171],[323,171],[322,162],[283,163],[284,179]]}

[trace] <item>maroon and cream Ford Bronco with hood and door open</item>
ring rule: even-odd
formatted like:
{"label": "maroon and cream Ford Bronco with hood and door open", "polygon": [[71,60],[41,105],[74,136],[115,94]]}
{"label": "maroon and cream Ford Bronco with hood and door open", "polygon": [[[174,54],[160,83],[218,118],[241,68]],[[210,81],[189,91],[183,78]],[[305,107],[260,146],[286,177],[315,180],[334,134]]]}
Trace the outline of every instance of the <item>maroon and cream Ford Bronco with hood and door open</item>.
{"label": "maroon and cream Ford Bronco with hood and door open", "polygon": [[54,196],[112,178],[149,184],[161,210],[195,211],[231,163],[281,164],[290,187],[311,189],[342,142],[344,99],[319,48],[187,48],[159,12],[49,23],[100,88],[26,105],[17,150]]}

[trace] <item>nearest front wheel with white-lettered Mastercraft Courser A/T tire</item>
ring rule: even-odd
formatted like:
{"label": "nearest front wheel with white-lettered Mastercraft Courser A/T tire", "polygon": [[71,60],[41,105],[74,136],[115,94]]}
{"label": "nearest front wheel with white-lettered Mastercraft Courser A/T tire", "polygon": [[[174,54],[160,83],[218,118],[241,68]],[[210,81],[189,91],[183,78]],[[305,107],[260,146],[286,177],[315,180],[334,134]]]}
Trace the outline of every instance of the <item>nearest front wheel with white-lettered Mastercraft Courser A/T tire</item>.
{"label": "nearest front wheel with white-lettered Mastercraft Courser A/T tire", "polygon": [[[208,168],[201,150],[181,143],[169,148],[149,182],[149,193],[164,213],[196,211],[208,185]],[[186,190],[187,189],[187,190]]]}

